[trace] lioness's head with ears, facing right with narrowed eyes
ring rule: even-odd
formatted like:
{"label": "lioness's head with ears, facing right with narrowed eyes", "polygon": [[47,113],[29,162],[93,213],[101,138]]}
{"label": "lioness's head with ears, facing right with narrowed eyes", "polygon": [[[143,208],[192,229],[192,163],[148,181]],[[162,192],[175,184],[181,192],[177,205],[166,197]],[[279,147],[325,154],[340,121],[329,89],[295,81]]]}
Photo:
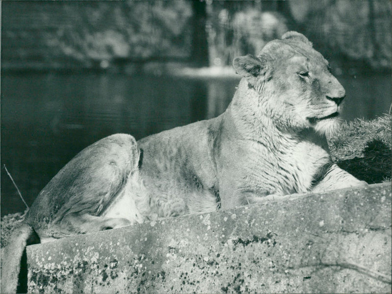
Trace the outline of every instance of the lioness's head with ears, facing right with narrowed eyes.
{"label": "lioness's head with ears, facing right with narrowed eyes", "polygon": [[337,126],[344,88],[304,35],[287,32],[281,40],[268,43],[257,57],[237,57],[233,65],[257,92],[261,111],[277,125],[314,128],[323,134]]}

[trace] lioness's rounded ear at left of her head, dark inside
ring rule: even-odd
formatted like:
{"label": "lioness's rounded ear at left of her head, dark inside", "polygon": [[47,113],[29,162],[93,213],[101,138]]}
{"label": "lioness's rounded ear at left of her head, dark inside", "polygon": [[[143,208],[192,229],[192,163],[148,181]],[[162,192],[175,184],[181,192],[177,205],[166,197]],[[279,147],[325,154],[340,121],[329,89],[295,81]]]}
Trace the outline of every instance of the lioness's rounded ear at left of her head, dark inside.
{"label": "lioness's rounded ear at left of her head, dark inside", "polygon": [[247,78],[254,78],[266,73],[267,60],[248,54],[234,58],[233,66],[236,73]]}

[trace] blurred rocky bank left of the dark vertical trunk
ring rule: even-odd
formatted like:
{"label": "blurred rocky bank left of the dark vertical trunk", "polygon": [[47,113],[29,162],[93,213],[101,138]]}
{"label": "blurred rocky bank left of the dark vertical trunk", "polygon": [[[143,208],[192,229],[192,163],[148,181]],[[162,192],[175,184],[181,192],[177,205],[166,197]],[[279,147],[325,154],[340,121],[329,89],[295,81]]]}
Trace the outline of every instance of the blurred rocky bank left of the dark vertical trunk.
{"label": "blurred rocky bank left of the dark vertical trunk", "polygon": [[192,9],[185,1],[9,1],[2,14],[6,68],[189,57]]}

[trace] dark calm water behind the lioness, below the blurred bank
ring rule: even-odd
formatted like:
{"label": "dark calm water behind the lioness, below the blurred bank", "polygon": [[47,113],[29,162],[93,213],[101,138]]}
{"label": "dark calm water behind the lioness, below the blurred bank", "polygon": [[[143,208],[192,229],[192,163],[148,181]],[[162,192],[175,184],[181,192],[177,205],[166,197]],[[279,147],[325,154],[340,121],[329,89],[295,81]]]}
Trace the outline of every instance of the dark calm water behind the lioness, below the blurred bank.
{"label": "dark calm water behind the lioness, below the blurred bank", "polygon": [[[343,118],[373,119],[391,105],[390,75],[339,78]],[[120,74],[3,73],[1,165],[28,205],[78,151],[113,133],[136,139],[221,114],[238,79]],[[24,210],[1,170],[1,215]]]}

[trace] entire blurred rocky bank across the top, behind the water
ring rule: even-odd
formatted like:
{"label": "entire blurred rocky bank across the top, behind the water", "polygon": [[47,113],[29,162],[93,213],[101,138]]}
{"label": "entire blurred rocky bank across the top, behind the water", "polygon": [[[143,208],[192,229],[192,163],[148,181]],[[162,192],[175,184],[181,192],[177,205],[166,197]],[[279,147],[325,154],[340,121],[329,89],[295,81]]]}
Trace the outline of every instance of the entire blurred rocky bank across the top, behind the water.
{"label": "entire blurred rocky bank across the top, behind the water", "polygon": [[344,70],[391,70],[391,1],[4,1],[3,69],[230,65],[287,30]]}

